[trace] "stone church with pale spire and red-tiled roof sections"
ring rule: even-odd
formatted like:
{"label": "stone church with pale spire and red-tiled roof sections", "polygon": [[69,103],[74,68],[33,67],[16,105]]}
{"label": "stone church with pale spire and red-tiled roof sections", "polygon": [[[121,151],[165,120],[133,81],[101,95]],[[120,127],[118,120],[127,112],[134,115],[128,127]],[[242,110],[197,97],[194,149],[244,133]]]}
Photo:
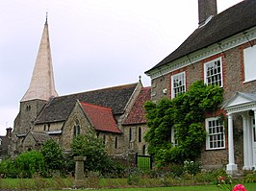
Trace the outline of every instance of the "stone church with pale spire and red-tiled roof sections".
{"label": "stone church with pale spire and red-tiled roof sections", "polygon": [[90,130],[103,139],[109,155],[145,155],[143,104],[150,100],[150,93],[151,88],[143,87],[140,78],[134,84],[59,96],[46,18],[31,82],[14,120],[10,155],[39,150],[49,138],[68,153],[72,139]]}

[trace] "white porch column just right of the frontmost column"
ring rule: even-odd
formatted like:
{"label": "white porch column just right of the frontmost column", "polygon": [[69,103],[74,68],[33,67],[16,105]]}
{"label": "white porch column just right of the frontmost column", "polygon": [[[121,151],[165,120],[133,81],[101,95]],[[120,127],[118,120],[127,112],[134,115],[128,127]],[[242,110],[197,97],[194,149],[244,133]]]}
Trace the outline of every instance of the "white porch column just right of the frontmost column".
{"label": "white porch column just right of the frontmost column", "polygon": [[248,126],[247,113],[243,113],[242,118],[243,118],[243,170],[250,170],[249,161],[248,161],[247,130],[249,126]]}

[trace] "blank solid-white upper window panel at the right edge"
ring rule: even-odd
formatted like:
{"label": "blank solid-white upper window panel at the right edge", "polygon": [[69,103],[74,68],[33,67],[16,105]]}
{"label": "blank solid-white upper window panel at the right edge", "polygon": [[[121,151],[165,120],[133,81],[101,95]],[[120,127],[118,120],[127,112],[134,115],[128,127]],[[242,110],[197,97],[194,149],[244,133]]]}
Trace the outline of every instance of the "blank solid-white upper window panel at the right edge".
{"label": "blank solid-white upper window panel at the right edge", "polygon": [[244,82],[248,83],[256,80],[255,64],[256,64],[256,47],[248,47],[243,49],[243,67],[244,67]]}

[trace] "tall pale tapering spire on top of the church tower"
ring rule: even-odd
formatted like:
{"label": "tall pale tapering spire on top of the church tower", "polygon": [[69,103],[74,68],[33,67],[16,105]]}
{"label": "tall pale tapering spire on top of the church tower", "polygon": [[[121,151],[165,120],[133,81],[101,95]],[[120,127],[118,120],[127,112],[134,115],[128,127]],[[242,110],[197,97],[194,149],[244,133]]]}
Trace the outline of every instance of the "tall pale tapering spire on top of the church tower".
{"label": "tall pale tapering spire on top of the church tower", "polygon": [[29,88],[21,102],[28,100],[45,100],[58,96],[55,90],[54,75],[52,67],[52,57],[50,49],[50,40],[48,33],[47,12],[43,33],[41,36],[38,57],[34,66],[33,75]]}

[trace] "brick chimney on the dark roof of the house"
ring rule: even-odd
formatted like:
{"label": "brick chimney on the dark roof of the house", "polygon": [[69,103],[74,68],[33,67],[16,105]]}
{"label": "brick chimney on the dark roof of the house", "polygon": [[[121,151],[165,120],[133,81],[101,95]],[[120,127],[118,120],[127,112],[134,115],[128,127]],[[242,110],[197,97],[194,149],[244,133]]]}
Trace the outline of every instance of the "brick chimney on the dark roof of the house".
{"label": "brick chimney on the dark roof of the house", "polygon": [[206,24],[211,16],[217,14],[217,0],[198,0],[199,27]]}

